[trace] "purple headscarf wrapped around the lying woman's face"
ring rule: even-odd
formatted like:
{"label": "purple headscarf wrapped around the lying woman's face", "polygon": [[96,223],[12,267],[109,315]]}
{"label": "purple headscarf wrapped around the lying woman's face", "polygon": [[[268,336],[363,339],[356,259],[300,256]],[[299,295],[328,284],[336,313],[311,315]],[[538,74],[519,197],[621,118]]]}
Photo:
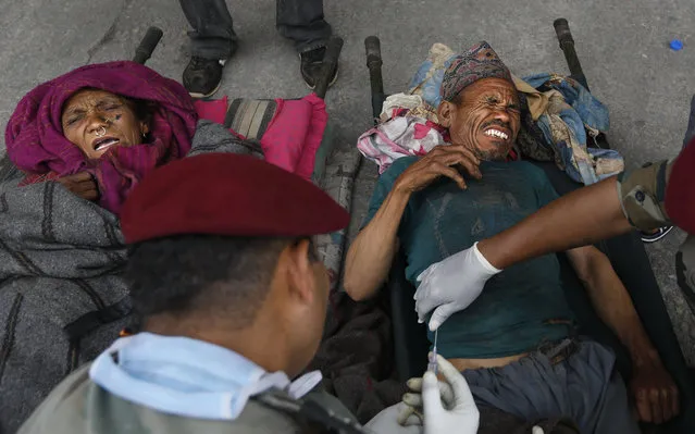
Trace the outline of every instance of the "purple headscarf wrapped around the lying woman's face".
{"label": "purple headscarf wrapped around the lying woman's face", "polygon": [[[156,103],[149,142],[112,147],[89,161],[63,135],[63,104],[83,88],[97,88]],[[121,61],[78,67],[28,92],[5,131],[8,154],[27,174],[24,185],[82,171],[99,184],[99,204],[114,213],[135,185],[154,168],[183,158],[197,122],[188,92],[178,83],[138,63]]]}

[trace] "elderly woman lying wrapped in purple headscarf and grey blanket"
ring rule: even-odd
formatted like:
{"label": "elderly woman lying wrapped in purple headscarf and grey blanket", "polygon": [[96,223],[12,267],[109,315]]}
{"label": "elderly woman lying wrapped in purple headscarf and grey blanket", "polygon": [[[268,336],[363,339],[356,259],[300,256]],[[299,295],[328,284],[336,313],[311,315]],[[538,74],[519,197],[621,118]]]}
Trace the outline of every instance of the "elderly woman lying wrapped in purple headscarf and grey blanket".
{"label": "elderly woman lying wrapped in purple headscarf and grey blanket", "polygon": [[23,178],[0,184],[0,432],[128,325],[117,214],[134,186],[203,148],[249,152],[196,122],[179,84],[132,62],[80,67],[18,103],[5,140]]}

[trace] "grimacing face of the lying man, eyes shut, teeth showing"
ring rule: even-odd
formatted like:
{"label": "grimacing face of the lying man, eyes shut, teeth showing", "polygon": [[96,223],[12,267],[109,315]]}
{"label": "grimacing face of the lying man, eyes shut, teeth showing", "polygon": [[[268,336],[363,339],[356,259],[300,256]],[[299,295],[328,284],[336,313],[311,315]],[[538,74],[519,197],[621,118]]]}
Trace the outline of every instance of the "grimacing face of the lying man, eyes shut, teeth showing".
{"label": "grimacing face of the lying man, eyes shut, teeth showing", "polygon": [[501,160],[511,149],[520,125],[519,95],[501,78],[484,78],[463,89],[460,103],[444,101],[438,116],[451,142],[467,146],[481,160]]}

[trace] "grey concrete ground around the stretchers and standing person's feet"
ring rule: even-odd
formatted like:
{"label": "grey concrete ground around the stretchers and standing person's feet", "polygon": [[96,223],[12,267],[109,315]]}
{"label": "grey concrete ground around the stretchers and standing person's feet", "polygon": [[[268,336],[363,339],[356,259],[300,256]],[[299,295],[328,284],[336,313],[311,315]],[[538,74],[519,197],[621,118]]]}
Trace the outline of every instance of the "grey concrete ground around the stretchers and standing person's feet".
{"label": "grey concrete ground around the stretchers and standing person's feet", "polygon": [[[228,1],[241,39],[219,95],[299,97],[307,92],[297,54],[274,29],[272,0]],[[174,0],[0,0],[0,124],[35,85],[88,62],[127,59],[150,25],[164,38],[148,63],[181,79],[187,23]],[[518,75],[566,73],[553,21],[567,17],[594,94],[611,110],[609,138],[629,165],[678,153],[695,91],[692,0],[326,1],[325,14],[345,38],[340,76],[327,97],[343,146],[370,125],[363,39],[382,39],[387,91],[402,90],[430,46],[455,49],[486,39]],[[683,51],[668,48],[671,38]],[[0,145],[0,150],[4,148]],[[364,162],[356,190],[359,222],[375,179]],[[598,204],[599,206],[599,204]],[[653,265],[686,357],[695,365],[695,320],[677,290],[673,255],[682,234],[649,247]]]}

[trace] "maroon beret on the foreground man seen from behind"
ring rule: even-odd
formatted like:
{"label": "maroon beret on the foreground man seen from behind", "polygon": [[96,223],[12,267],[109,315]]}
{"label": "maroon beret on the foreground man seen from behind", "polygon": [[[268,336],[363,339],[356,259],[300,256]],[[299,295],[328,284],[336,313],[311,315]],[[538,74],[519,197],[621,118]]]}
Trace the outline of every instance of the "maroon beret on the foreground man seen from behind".
{"label": "maroon beret on the foreground man seen from behind", "polygon": [[350,215],[310,182],[233,153],[189,157],[157,169],[125,201],[128,244],[183,234],[295,237],[346,227]]}

